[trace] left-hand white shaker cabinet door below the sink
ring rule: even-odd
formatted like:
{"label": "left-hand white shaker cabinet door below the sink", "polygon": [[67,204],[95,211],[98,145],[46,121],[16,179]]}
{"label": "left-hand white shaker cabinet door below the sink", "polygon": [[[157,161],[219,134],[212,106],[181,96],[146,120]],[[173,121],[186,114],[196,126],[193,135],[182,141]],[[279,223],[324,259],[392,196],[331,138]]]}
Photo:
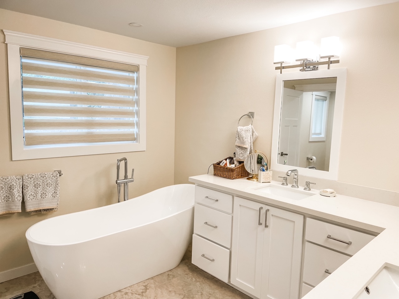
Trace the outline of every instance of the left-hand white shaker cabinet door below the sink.
{"label": "left-hand white shaker cabinet door below the sink", "polygon": [[260,203],[234,197],[230,281],[258,298],[261,296],[265,209]]}

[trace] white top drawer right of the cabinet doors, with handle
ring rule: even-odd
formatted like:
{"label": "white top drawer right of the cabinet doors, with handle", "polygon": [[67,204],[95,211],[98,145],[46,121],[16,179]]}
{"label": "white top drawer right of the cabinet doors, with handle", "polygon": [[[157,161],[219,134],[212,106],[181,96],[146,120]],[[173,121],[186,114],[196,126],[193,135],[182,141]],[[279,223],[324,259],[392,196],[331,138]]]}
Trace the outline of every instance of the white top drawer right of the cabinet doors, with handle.
{"label": "white top drawer right of the cabinet doors, with handle", "polygon": [[[346,254],[353,256],[368,242],[373,240],[374,236],[342,226],[307,218],[305,238],[308,241],[345,252]],[[334,240],[332,238],[338,240]]]}

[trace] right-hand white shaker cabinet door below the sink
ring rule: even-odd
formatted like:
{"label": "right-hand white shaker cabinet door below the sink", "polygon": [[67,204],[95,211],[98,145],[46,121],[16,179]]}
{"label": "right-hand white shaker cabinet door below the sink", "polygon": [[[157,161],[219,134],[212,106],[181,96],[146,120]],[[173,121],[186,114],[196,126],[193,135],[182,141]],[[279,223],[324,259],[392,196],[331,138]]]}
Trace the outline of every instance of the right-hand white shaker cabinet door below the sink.
{"label": "right-hand white shaker cabinet door below the sink", "polygon": [[273,207],[266,209],[261,299],[297,299],[304,217]]}

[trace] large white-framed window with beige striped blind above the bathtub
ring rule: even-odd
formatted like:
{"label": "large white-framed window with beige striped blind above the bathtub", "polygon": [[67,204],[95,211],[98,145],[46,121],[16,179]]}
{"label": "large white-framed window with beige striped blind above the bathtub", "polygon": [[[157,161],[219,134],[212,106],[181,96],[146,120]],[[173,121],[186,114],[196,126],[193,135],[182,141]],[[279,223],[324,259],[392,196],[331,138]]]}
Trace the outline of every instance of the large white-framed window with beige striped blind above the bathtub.
{"label": "large white-framed window with beige striped blind above the bathtub", "polygon": [[13,160],[145,150],[148,57],[4,33]]}

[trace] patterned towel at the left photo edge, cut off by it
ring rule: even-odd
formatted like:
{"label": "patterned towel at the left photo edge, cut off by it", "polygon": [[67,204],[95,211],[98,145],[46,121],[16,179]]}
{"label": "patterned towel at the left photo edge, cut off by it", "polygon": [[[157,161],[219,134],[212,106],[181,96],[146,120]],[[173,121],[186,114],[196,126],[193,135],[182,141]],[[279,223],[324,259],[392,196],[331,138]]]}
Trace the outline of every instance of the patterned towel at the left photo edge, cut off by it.
{"label": "patterned towel at the left photo edge, cut off by it", "polygon": [[21,212],[22,176],[0,177],[0,215]]}

